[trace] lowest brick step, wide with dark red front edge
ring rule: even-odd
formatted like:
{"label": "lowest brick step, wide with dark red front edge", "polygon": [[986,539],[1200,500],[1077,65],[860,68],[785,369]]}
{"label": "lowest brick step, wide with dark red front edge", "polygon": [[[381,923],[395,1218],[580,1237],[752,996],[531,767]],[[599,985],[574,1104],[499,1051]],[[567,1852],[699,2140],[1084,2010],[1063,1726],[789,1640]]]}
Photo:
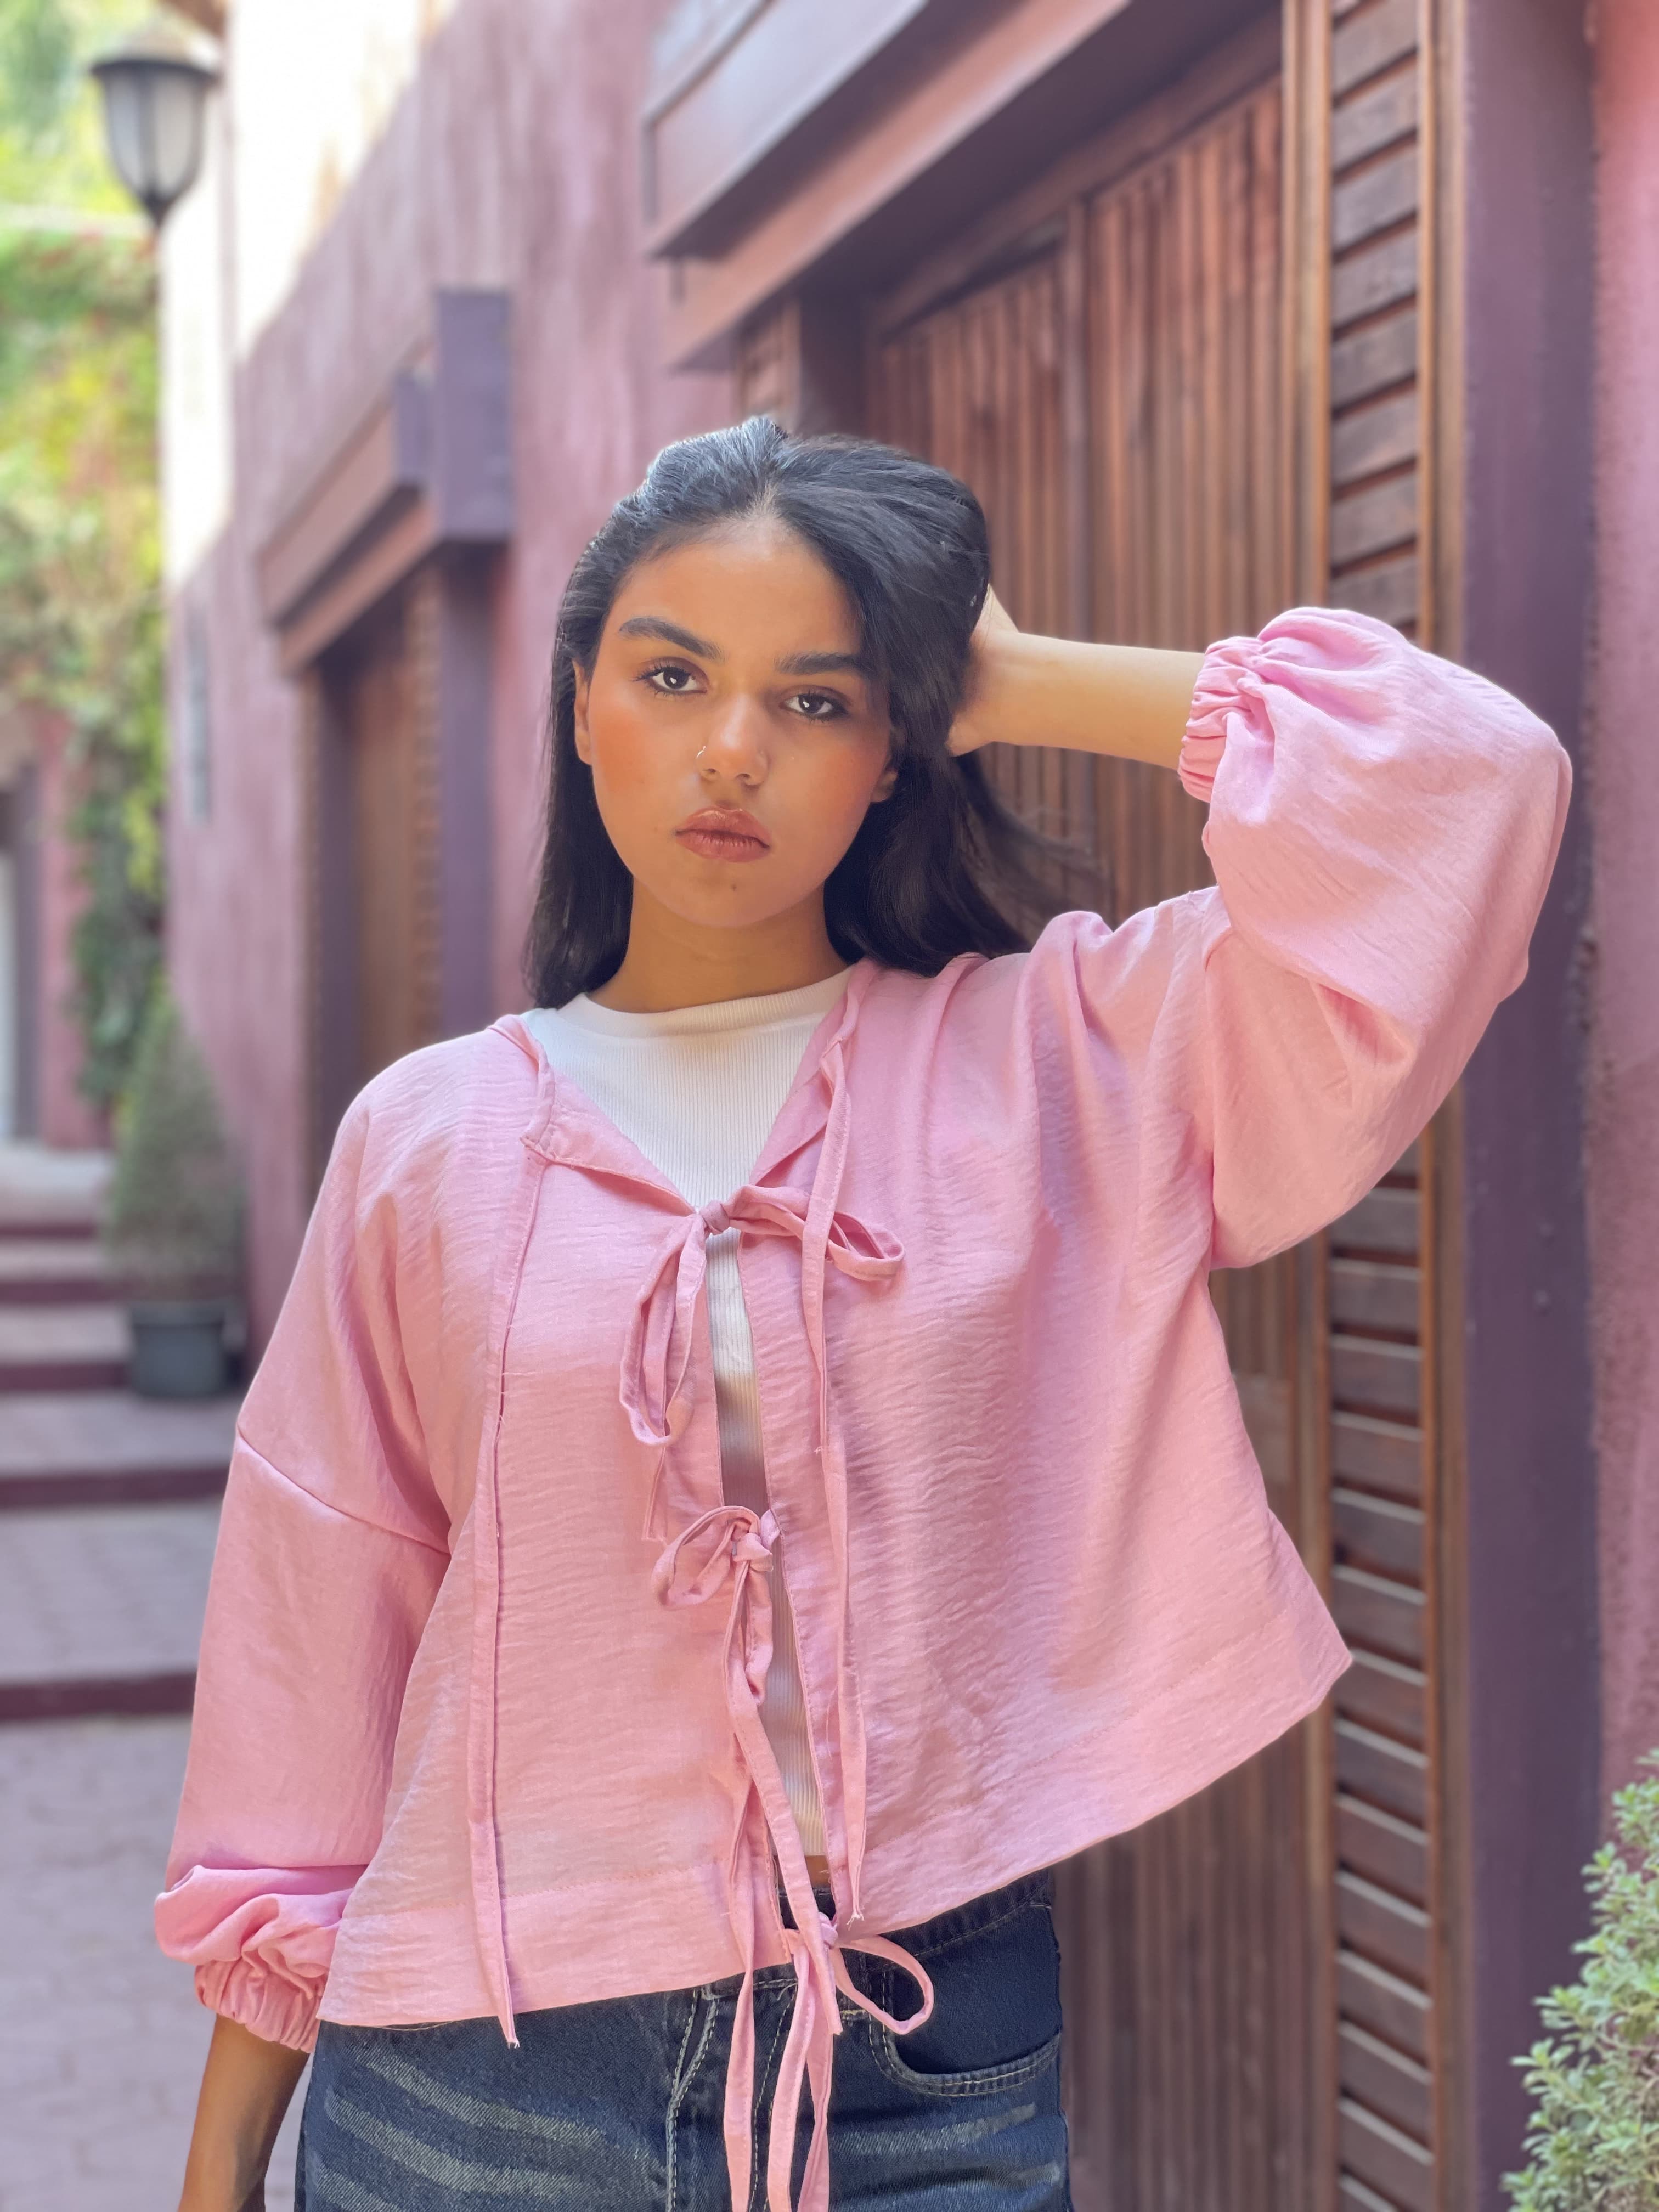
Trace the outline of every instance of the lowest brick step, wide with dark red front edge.
{"label": "lowest brick step, wide with dark red front edge", "polygon": [[219,1506],[0,1520],[0,1719],[188,1708]]}

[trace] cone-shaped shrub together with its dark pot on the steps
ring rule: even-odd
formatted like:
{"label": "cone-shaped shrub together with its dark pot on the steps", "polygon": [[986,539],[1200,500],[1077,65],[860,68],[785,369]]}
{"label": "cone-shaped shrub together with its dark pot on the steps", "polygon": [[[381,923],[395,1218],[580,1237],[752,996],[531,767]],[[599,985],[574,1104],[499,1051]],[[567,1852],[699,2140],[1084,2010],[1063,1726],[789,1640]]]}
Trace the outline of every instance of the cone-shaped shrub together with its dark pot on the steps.
{"label": "cone-shaped shrub together with its dark pot on the steps", "polygon": [[126,1095],[104,1248],[133,1325],[133,1389],[210,1398],[241,1296],[241,1179],[212,1077],[173,995],[157,991]]}

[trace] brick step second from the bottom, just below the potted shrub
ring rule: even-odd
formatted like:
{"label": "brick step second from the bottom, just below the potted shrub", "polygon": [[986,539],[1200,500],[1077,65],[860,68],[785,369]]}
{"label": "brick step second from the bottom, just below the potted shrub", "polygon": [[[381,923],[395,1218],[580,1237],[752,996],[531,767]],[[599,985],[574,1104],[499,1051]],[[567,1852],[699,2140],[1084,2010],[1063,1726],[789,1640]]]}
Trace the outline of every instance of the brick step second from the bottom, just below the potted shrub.
{"label": "brick step second from the bottom, just below the potted shrub", "polygon": [[0,1420],[0,1513],[217,1498],[239,1402],[18,1391]]}

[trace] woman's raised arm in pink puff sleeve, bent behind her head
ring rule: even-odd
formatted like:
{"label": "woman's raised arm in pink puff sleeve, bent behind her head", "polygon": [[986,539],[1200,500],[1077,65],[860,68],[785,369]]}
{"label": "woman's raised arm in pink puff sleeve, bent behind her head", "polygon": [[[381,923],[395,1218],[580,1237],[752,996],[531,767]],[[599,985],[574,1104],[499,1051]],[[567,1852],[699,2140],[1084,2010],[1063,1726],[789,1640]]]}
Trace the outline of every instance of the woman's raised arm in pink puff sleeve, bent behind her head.
{"label": "woman's raised arm in pink puff sleeve, bent behind her head", "polygon": [[[1106,648],[993,646],[998,734],[1060,743],[1093,712],[1093,750],[1168,748],[1190,659],[1148,655],[1137,692],[1088,655]],[[1571,768],[1509,692],[1332,608],[1212,646],[1181,719],[1172,765],[1210,801],[1214,889],[1119,929],[1057,916],[1026,995],[1128,1073],[1146,1126],[1190,1135],[1212,1265],[1241,1267],[1363,1197],[1462,1073],[1526,973]]]}

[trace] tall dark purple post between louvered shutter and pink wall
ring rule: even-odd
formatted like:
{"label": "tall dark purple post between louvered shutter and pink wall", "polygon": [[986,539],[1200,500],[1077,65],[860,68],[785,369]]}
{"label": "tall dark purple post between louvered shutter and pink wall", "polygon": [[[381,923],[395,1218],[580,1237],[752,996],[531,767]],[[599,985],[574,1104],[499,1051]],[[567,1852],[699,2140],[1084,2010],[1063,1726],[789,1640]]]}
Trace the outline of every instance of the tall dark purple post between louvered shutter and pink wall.
{"label": "tall dark purple post between louvered shutter and pink wall", "polygon": [[[1593,606],[1593,51],[1575,0],[1458,0],[1442,62],[1442,343],[1436,639],[1586,759]],[[1462,73],[1462,97],[1455,75]],[[1467,239],[1458,272],[1458,239]],[[1449,387],[1447,387],[1449,383]],[[1455,414],[1460,409],[1462,425]],[[1458,553],[1455,535],[1467,546]],[[1460,2095],[1473,2185],[1498,2212],[1520,2163],[1513,2066],[1566,1980],[1599,1840],[1597,1546],[1584,1219],[1582,796],[1528,978],[1462,1082],[1464,1604],[1471,2044]]]}

